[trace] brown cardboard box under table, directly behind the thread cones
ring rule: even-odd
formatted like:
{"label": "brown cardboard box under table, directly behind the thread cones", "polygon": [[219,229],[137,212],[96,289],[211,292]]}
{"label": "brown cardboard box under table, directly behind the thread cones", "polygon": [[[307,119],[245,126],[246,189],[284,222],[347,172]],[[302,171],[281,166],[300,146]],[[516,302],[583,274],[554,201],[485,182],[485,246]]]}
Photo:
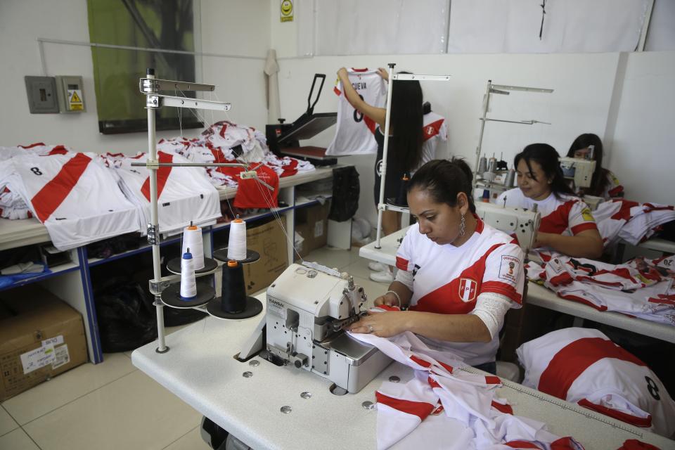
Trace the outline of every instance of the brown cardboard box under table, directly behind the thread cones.
{"label": "brown cardboard box under table, directly behind the thread cones", "polygon": [[[286,227],[285,217],[281,217]],[[248,295],[267,288],[288,267],[288,241],[276,220],[246,230],[246,247],[260,254],[252,264],[244,264]]]}

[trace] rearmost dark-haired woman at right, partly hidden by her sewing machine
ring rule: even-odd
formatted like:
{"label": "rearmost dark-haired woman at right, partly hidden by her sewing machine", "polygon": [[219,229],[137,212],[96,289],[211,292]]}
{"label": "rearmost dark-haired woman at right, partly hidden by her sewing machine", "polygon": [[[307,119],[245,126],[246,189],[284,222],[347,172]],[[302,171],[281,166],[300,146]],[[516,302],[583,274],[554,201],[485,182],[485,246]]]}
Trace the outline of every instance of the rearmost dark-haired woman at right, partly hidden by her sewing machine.
{"label": "rearmost dark-haired woman at right, partly hidden by her sewing machine", "polygon": [[593,133],[579,134],[577,139],[572,142],[570,150],[567,152],[567,158],[583,158],[596,162],[591,186],[588,188],[574,187],[574,191],[578,195],[595,195],[605,200],[624,196],[624,186],[621,185],[617,176],[603,167],[603,141],[600,140],[598,135]]}

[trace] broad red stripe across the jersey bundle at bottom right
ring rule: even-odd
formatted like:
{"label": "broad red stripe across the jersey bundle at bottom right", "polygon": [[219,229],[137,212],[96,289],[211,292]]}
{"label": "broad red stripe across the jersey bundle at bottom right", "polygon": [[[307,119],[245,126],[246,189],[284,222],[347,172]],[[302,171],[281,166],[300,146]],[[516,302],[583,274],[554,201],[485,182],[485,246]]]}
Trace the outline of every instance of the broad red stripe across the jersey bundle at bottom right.
{"label": "broad red stripe across the jersey bundle at bottom right", "polygon": [[553,356],[546,370],[539,378],[541,392],[553,395],[559,399],[567,399],[567,391],[581,373],[604,358],[620,359],[638,366],[645,363],[626,352],[614,342],[603,338],[581,338],[565,345]]}

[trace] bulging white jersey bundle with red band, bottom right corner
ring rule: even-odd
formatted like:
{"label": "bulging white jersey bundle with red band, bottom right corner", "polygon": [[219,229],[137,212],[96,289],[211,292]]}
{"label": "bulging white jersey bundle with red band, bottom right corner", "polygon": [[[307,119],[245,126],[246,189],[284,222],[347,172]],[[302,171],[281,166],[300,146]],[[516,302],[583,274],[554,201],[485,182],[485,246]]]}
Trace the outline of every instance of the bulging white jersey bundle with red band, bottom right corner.
{"label": "bulging white jersey bundle with red band, bottom right corner", "polygon": [[591,328],[565,328],[521,345],[523,385],[672,437],[675,402],[642,361]]}

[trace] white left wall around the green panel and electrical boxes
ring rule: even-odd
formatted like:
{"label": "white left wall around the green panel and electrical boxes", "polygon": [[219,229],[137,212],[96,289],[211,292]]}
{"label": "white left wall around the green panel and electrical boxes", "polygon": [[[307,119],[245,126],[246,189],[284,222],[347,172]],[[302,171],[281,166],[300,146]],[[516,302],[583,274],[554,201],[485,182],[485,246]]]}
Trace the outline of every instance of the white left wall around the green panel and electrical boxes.
{"label": "white left wall around the green panel and electrical boxes", "polygon": [[[196,81],[219,85],[216,94],[221,101],[233,104],[229,113],[233,120],[262,127],[266,122],[262,67],[270,41],[269,1],[199,3],[203,51],[260,59],[203,57],[203,79]],[[29,113],[23,77],[43,75],[37,37],[89,41],[86,0],[0,1],[0,96],[6,100],[6,107],[0,109],[0,146],[43,141],[62,143],[77,151],[145,151],[145,133],[107,136],[98,133],[89,47],[44,44],[46,75],[82,75],[86,113]],[[138,88],[129,86],[129,89]],[[207,122],[223,118],[224,113],[205,113]],[[184,134],[197,133],[186,130]],[[177,130],[165,131],[158,134],[158,139],[177,135]]]}

